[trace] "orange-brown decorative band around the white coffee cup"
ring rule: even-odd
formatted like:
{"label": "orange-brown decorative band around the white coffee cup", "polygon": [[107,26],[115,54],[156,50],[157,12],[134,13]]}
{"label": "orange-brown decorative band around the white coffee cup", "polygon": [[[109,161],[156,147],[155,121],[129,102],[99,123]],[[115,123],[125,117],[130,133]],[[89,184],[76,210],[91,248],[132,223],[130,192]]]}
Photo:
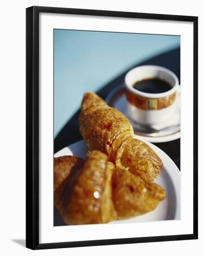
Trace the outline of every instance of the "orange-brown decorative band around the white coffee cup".
{"label": "orange-brown decorative band around the white coffee cup", "polygon": [[149,98],[144,98],[136,94],[133,94],[128,90],[126,93],[127,93],[128,101],[132,105],[143,110],[158,110],[158,109],[167,108],[173,104],[173,102],[176,100],[176,95],[177,95],[177,93],[175,92],[170,96],[167,96],[164,98],[149,99]]}

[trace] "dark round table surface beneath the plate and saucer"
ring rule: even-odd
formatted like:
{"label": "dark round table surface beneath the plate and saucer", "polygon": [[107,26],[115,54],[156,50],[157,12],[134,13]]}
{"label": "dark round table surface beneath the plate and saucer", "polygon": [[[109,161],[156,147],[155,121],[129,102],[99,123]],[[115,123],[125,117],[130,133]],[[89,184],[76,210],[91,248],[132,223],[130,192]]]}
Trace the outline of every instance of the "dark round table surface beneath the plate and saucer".
{"label": "dark round table surface beneath the plate and saucer", "polygon": [[[177,75],[180,82],[180,48],[172,50],[170,52],[166,52],[164,54],[157,55],[156,57],[139,63],[138,65],[133,67],[137,67],[140,65],[158,65],[166,67]],[[109,92],[113,88],[124,82],[124,76],[127,72],[128,70],[126,70],[126,72],[118,76],[115,80],[111,81],[109,84],[107,84],[96,93],[100,97],[105,99],[107,94],[109,94]],[[82,136],[79,133],[79,111],[80,110],[78,110],[72,116],[72,118],[65,124],[65,126],[61,129],[61,131],[55,138],[54,153],[76,141],[82,140]],[[161,148],[167,155],[169,155],[173,162],[175,162],[177,167],[180,169],[180,139],[153,144],[155,144],[158,148]]]}

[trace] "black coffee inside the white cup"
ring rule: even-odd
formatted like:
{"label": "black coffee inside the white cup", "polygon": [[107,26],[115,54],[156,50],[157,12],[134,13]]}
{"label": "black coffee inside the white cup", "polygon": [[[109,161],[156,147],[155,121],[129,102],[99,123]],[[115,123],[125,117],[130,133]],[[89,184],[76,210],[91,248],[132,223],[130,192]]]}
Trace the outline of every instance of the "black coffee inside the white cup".
{"label": "black coffee inside the white cup", "polygon": [[136,82],[133,88],[149,94],[160,94],[169,91],[172,87],[169,83],[158,78],[149,78]]}

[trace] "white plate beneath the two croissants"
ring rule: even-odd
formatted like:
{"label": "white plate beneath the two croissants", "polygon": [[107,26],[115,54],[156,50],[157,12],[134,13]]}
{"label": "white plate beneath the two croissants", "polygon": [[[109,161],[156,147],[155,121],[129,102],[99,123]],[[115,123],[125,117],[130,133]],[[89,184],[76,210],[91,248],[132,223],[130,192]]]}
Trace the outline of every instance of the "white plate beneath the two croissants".
{"label": "white plate beneath the two croissants", "polygon": [[[164,163],[161,173],[155,182],[166,190],[166,198],[159,203],[157,208],[149,213],[130,219],[114,221],[111,223],[146,222],[180,219],[180,171],[175,163],[160,148],[146,142],[154,149]],[[75,155],[85,159],[88,148],[85,141],[78,141],[57,152],[54,157],[62,155]]]}

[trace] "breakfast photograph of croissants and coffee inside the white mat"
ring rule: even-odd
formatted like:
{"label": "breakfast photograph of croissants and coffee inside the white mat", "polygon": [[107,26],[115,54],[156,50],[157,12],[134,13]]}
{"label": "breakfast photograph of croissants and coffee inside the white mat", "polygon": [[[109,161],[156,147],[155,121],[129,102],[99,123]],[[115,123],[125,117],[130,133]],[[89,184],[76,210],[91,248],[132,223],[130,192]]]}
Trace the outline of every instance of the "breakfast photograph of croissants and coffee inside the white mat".
{"label": "breakfast photograph of croissants and coffee inside the white mat", "polygon": [[180,39],[53,30],[54,226],[181,219]]}

